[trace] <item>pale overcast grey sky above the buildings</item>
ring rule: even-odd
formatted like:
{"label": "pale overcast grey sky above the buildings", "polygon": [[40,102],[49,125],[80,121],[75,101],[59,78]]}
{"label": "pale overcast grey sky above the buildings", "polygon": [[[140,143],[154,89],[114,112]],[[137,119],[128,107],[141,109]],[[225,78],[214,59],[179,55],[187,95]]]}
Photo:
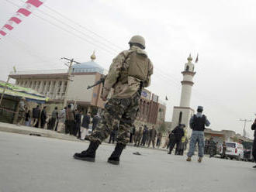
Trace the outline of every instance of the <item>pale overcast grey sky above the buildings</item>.
{"label": "pale overcast grey sky above the buildings", "polygon": [[[22,5],[1,0],[1,26],[18,10],[9,2]],[[254,120],[256,113],[255,10],[254,0],[47,0],[0,39],[0,79],[6,80],[13,65],[17,70],[61,69],[60,57],[85,62],[93,50],[96,62],[108,69],[112,57],[139,34],[154,63],[149,90],[162,101],[168,96],[167,121],[179,105],[186,59],[191,53],[195,60],[199,53],[191,107],[204,106],[211,129],[242,133],[239,119]],[[253,135],[251,122],[247,132]]]}

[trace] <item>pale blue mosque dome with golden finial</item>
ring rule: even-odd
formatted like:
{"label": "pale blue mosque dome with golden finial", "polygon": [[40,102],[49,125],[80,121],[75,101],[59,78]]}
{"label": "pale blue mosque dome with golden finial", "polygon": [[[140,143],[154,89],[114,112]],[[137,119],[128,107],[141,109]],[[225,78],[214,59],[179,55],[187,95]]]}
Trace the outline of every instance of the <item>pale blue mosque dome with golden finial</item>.
{"label": "pale blue mosque dome with golden finial", "polygon": [[95,62],[95,53],[92,54],[90,61],[80,64],[74,64],[72,67],[73,73],[92,73],[98,72],[99,74],[103,74],[104,69]]}

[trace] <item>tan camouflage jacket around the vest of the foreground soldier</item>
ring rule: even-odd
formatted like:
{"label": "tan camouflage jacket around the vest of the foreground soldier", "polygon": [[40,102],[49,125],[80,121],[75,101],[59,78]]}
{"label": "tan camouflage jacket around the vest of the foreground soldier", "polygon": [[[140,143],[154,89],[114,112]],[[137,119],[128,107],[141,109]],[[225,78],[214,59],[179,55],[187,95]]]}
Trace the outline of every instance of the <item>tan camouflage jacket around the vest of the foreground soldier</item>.
{"label": "tan camouflage jacket around the vest of the foreground soldier", "polygon": [[[141,50],[137,46],[132,46],[130,50],[124,50],[112,60],[112,64],[109,67],[109,74],[106,77],[103,87],[106,93],[109,93],[111,88],[114,89],[112,98],[130,98],[140,89],[141,80],[136,77],[128,76],[128,81],[125,84],[119,81],[121,72],[123,70],[128,70],[129,65],[126,61],[129,60],[130,53],[133,53],[134,51],[144,54],[147,57],[147,53],[144,50]],[[153,64],[149,60],[147,81],[144,81],[144,87],[148,87],[150,85],[151,74],[153,74]]]}

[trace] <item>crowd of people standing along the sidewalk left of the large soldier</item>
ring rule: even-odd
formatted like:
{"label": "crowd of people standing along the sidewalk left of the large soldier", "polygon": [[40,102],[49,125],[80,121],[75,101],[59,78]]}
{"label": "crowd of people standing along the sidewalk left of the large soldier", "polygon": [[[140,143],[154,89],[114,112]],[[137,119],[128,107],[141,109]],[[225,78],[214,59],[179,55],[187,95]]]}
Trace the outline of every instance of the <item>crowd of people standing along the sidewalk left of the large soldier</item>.
{"label": "crowd of people standing along the sidewalk left of the large soldier", "polygon": [[99,115],[85,113],[82,110],[72,109],[71,105],[58,111],[55,107],[50,115],[47,115],[47,106],[42,109],[40,105],[30,110],[24,102],[19,104],[18,125],[32,126],[35,128],[49,129],[56,132],[62,132],[85,139],[88,135],[89,125],[92,124],[92,131],[99,122]]}

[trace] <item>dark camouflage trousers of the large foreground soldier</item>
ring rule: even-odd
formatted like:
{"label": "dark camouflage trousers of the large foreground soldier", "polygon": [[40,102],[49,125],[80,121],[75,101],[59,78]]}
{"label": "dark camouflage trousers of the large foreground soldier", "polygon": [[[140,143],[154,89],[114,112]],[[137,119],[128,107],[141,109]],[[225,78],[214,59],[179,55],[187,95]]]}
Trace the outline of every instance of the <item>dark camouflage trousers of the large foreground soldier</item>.
{"label": "dark camouflage trousers of the large foreground soldier", "polygon": [[126,145],[130,140],[128,133],[133,126],[139,105],[139,92],[133,94],[131,98],[110,98],[99,124],[89,136],[90,141],[102,142],[113,129],[117,129],[116,141]]}

